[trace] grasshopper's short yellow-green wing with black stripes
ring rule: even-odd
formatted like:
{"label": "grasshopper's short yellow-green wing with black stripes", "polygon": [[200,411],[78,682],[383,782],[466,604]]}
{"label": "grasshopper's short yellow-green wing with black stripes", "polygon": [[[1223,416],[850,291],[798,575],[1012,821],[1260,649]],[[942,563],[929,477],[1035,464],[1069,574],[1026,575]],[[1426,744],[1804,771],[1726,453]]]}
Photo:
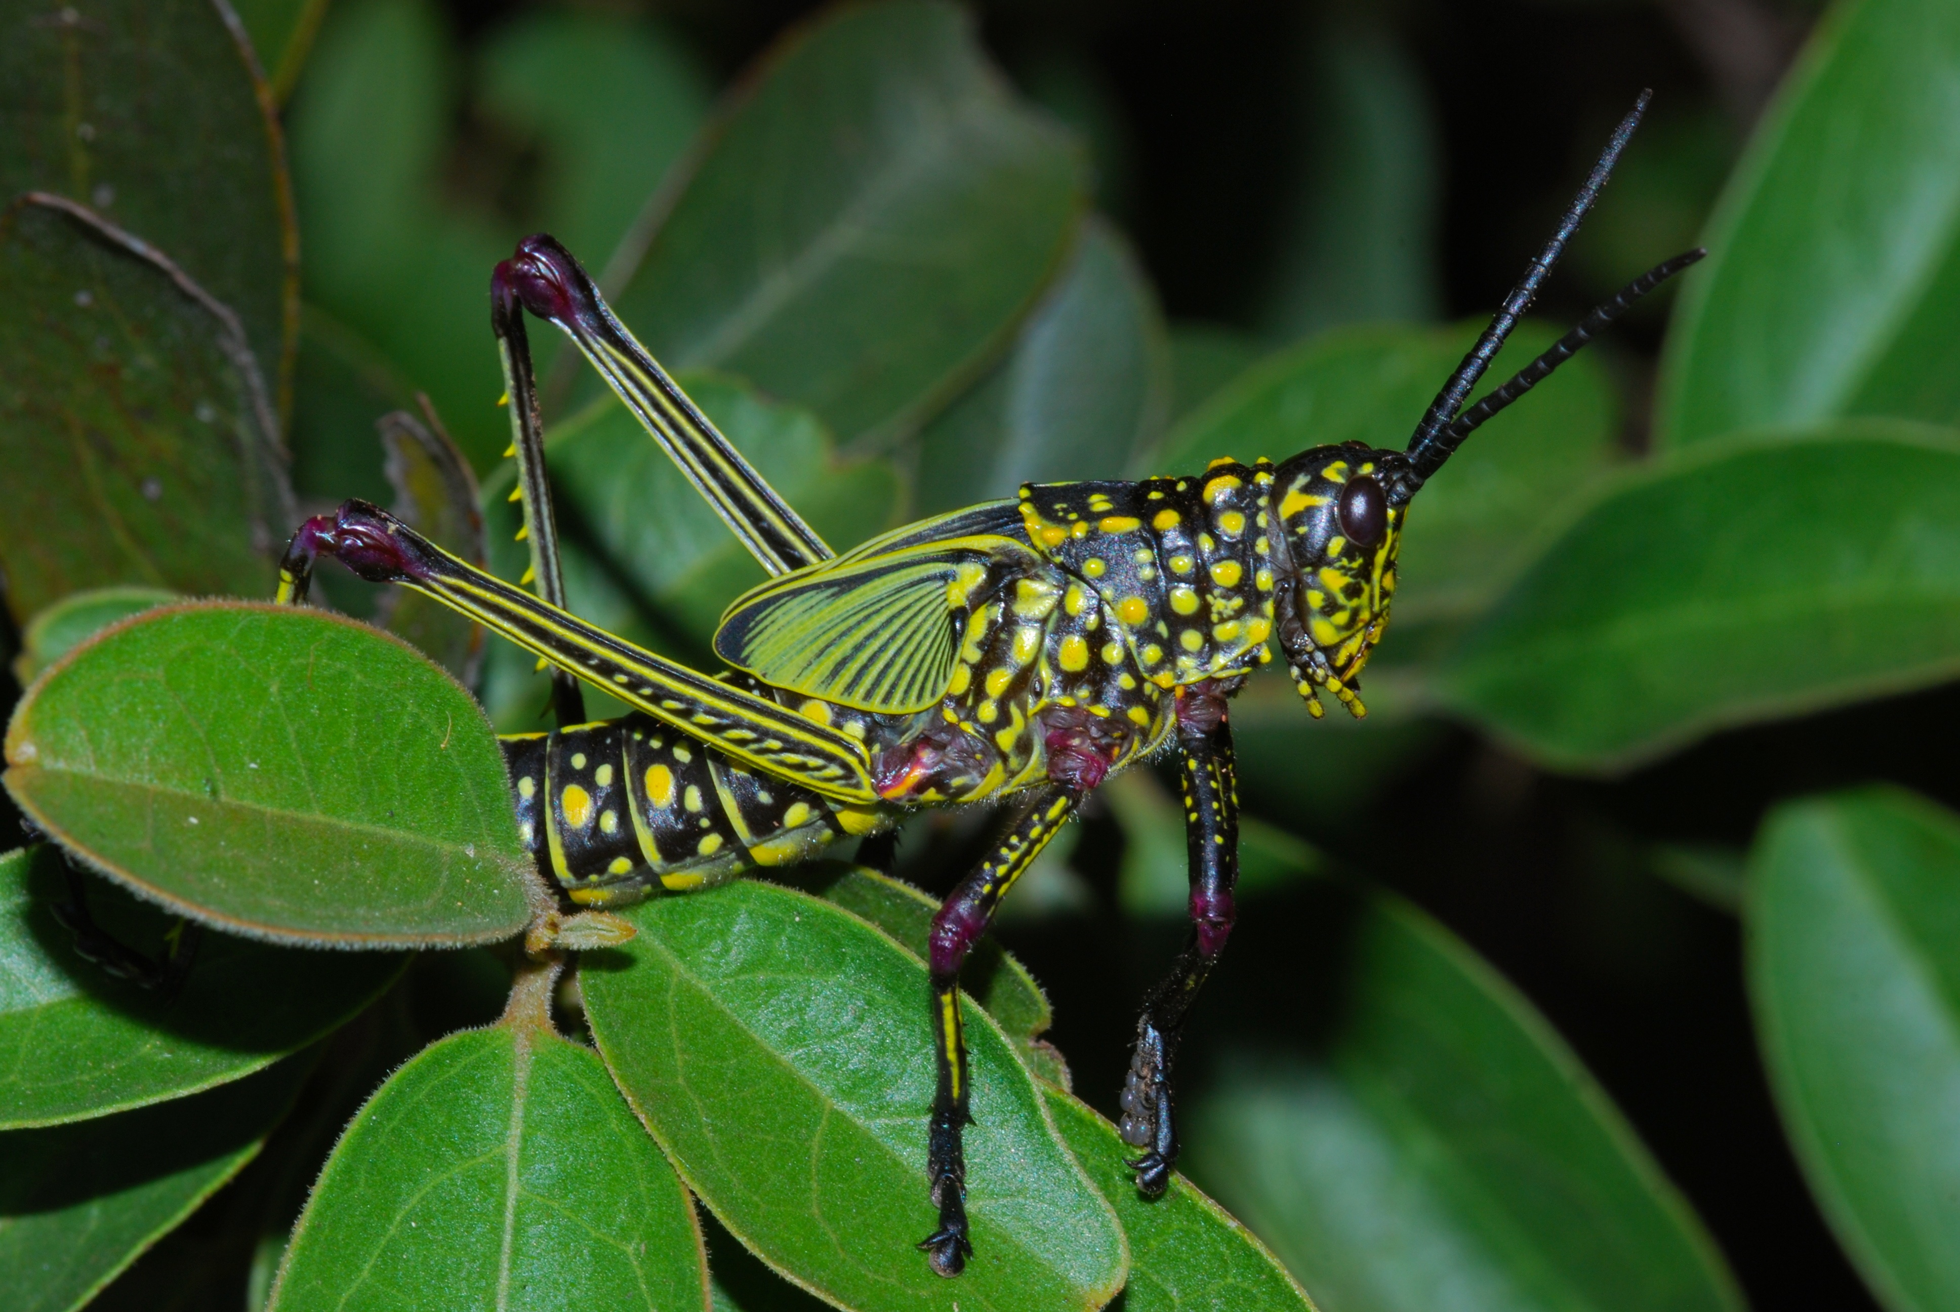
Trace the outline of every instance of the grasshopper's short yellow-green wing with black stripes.
{"label": "grasshopper's short yellow-green wing with black stripes", "polygon": [[986,579],[976,551],[900,551],[762,584],[721,620],[715,655],[766,684],[872,714],[933,706],[958,622]]}

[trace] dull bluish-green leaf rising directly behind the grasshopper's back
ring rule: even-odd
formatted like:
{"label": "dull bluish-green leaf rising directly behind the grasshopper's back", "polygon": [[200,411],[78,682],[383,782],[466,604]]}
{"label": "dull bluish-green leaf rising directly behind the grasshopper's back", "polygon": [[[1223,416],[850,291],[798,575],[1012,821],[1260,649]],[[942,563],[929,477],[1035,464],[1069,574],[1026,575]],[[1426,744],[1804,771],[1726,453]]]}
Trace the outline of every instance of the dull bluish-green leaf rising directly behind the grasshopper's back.
{"label": "dull bluish-green leaf rising directly behind the grasshopper's back", "polygon": [[1168,404],[1156,294],[1129,245],[1092,218],[1007,359],[919,435],[919,510],[1139,473]]}

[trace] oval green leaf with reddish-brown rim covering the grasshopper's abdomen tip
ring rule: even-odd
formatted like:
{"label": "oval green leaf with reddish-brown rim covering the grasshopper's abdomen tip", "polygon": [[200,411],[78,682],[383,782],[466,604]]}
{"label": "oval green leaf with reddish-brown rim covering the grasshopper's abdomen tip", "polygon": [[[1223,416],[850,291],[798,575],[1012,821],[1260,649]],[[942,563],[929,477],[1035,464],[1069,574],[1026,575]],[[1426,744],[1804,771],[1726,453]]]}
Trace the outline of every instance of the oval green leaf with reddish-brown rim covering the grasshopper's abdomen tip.
{"label": "oval green leaf with reddish-brown rim covering the grasshopper's abdomen tip", "polygon": [[476,702],[325,612],[137,616],[22,698],[6,761],[63,847],[223,930],[388,947],[529,922],[531,857]]}

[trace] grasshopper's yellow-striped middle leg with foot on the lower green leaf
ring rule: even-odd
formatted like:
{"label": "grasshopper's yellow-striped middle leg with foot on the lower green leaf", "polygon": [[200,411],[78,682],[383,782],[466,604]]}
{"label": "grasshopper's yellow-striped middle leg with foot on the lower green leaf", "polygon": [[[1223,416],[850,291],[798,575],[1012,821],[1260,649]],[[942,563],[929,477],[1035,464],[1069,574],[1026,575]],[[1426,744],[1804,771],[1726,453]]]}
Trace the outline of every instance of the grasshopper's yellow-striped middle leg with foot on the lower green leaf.
{"label": "grasshopper's yellow-striped middle leg with foot on the lower green leaf", "polygon": [[939,1086],[933,1092],[933,1122],[927,1135],[925,1173],[931,1179],[939,1230],[919,1243],[939,1275],[966,1269],[974,1245],[966,1232],[966,1153],[962,1135],[968,1114],[966,1034],[960,1026],[960,963],[986,928],[1013,881],[1033,865],[1056,830],[1082,802],[1082,794],[1062,786],[1029,792],[994,853],[947,894],[933,916],[933,1047]]}

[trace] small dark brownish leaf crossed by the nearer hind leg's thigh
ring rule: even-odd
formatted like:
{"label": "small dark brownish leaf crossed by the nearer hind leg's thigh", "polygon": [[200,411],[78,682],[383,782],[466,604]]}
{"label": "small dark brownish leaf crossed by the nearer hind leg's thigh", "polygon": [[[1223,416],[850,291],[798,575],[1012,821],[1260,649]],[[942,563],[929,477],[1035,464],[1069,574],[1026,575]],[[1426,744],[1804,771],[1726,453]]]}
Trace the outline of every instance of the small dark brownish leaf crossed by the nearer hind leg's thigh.
{"label": "small dark brownish leaf crossed by the nearer hind leg's thigh", "polygon": [[[427,420],[427,422],[423,422]],[[394,410],[380,418],[380,445],[394,484],[394,516],[470,565],[484,565],[484,518],[476,508],[476,475],[449,441],[435,408],[416,418]],[[390,633],[408,639],[465,686],[476,681],[484,631],[431,596],[410,588],[382,592],[380,614]]]}

